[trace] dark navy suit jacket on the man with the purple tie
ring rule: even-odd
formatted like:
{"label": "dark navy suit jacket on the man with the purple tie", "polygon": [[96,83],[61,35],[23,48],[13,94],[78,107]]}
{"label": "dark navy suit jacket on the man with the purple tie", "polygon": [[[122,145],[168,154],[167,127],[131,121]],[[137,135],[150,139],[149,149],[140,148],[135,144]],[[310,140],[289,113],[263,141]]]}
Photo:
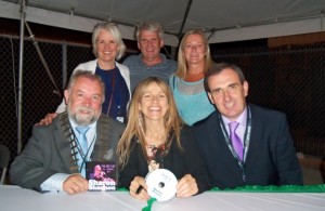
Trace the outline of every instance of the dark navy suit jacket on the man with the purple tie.
{"label": "dark navy suit jacket on the man with the purple tie", "polygon": [[193,126],[208,164],[211,185],[234,188],[245,185],[301,185],[302,173],[288,130],[286,116],[280,111],[250,105],[251,135],[244,164],[245,179],[231,154],[219,123],[219,113]]}

